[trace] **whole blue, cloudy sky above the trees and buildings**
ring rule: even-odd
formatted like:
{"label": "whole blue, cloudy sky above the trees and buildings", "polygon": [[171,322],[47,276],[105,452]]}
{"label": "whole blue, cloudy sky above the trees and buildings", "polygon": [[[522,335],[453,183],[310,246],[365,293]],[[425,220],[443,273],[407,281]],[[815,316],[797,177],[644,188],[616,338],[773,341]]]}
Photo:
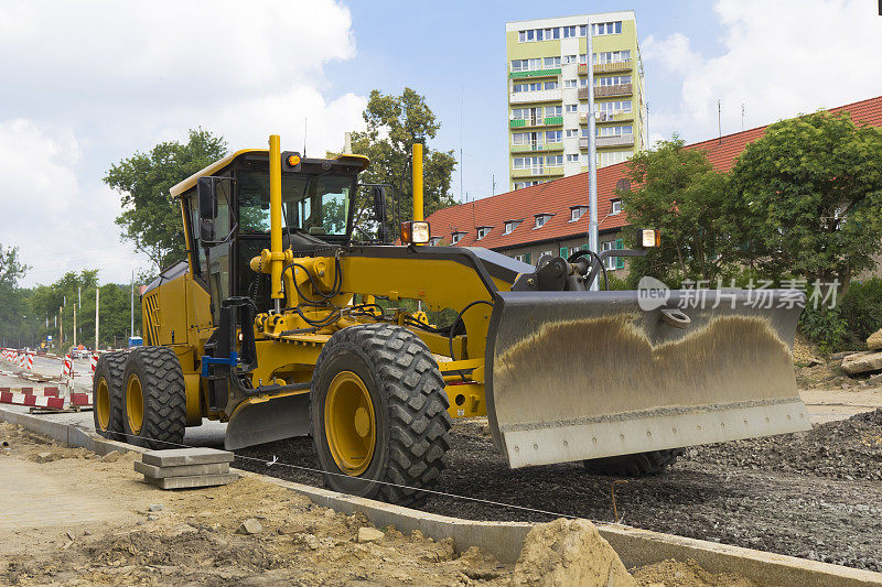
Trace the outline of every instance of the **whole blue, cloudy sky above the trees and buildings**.
{"label": "whole blue, cloudy sky above the trees and buildings", "polygon": [[[114,163],[202,127],[230,149],[321,154],[373,89],[426,96],[452,193],[507,187],[505,23],[632,9],[649,134],[687,142],[882,94],[875,0],[0,0],[0,244],[23,285],[149,261],[120,240]],[[494,188],[495,178],[495,188]],[[460,185],[463,186],[462,191]]]}

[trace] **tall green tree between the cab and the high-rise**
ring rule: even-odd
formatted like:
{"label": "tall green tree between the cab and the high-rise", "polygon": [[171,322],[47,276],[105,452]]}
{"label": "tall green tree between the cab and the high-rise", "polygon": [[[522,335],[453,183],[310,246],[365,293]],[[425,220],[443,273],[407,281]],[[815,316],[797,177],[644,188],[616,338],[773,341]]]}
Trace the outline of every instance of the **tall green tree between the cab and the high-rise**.
{"label": "tall green tree between the cab and the high-rise", "polygon": [[[370,157],[370,166],[362,174],[362,183],[389,184],[392,194],[387,195],[388,229],[397,235],[396,220],[407,220],[413,214],[413,188],[411,182],[411,149],[413,143],[423,144],[423,204],[426,216],[452,205],[450,182],[456,160],[453,151],[431,149],[428,142],[435,138],[441,123],[426,97],[410,88],[400,96],[370,93],[362,115],[367,123],[363,132],[354,132],[354,153]],[[329,153],[331,154],[331,153]],[[364,220],[364,211],[372,205],[367,191],[359,194],[356,218]],[[398,217],[398,218],[396,218]]]}

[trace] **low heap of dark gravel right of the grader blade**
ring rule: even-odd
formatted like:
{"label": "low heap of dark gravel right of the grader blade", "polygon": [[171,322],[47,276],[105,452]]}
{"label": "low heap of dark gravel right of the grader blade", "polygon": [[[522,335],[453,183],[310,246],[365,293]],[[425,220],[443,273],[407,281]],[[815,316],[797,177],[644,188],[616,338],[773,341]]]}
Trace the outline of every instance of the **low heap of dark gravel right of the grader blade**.
{"label": "low heap of dark gravel right of the grader blade", "polygon": [[808,432],[697,446],[686,452],[686,458],[831,479],[882,480],[882,409],[818,424]]}

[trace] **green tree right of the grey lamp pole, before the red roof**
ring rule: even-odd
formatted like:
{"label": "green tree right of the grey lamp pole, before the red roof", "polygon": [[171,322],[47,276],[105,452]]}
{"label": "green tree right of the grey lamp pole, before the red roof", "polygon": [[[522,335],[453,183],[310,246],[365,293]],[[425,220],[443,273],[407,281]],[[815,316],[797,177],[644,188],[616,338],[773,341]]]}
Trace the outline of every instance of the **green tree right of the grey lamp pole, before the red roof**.
{"label": "green tree right of the grey lamp pole, before the red roof", "polygon": [[627,169],[634,188],[620,196],[628,222],[662,231],[662,247],[632,263],[631,281],[654,275],[670,284],[686,279],[716,283],[724,276],[733,246],[722,214],[725,176],[707,155],[684,149],[674,135],[635,154]]}

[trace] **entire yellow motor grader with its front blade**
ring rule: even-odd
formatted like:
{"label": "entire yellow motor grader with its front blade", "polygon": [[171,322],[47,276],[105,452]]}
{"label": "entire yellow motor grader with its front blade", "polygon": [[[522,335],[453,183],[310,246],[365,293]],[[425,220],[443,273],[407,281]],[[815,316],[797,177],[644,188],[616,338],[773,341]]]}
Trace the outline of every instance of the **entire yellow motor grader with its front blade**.
{"label": "entire yellow motor grader with its front blade", "polygon": [[[272,135],[175,185],[187,258],[141,297],[144,346],[99,359],[96,430],[152,448],[206,417],[227,423],[228,449],[311,435],[332,489],[412,504],[439,480],[455,417],[486,415],[513,468],[616,475],[808,428],[784,292],[757,306],[745,291],[700,305],[670,291],[646,307],[636,291],[590,291],[613,251],[533,267],[427,246],[421,153],[400,244],[384,235],[383,186],[359,186],[361,155],[308,159]],[[432,324],[415,302],[455,319]]]}

